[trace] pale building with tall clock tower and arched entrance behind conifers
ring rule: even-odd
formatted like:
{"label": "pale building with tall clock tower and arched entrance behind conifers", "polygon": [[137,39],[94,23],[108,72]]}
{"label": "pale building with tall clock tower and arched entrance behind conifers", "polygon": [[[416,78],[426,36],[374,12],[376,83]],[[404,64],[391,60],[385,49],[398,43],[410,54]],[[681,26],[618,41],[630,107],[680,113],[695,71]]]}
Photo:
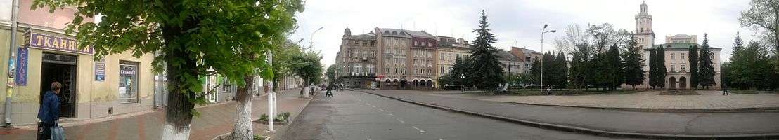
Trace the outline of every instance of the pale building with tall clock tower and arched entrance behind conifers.
{"label": "pale building with tall clock tower and arched entrance behind conifers", "polygon": [[[665,44],[654,45],[654,32],[652,30],[652,15],[647,13],[647,4],[642,3],[640,5],[640,13],[636,15],[636,31],[633,35],[639,43],[639,47],[643,50],[642,59],[644,60],[644,84],[636,87],[650,88],[649,87],[649,52],[651,48],[657,48],[663,46],[665,50],[665,67],[668,74],[665,75],[665,87],[670,89],[689,89],[689,46],[699,46],[698,36],[693,35],[675,35],[665,36]],[[711,62],[714,64],[715,86],[719,87],[720,84],[720,51],[721,48],[710,47],[713,57]],[[700,52],[700,51],[699,51]],[[622,85],[622,87],[630,87],[628,85]]]}

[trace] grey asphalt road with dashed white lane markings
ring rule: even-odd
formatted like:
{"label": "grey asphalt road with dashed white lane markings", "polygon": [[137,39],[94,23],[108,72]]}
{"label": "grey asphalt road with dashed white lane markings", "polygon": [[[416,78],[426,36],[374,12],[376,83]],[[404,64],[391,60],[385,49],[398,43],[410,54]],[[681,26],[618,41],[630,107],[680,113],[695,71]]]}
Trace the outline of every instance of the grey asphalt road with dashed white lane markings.
{"label": "grey asphalt road with dashed white lane markings", "polygon": [[359,91],[308,104],[280,139],[629,139],[578,134],[442,111]]}

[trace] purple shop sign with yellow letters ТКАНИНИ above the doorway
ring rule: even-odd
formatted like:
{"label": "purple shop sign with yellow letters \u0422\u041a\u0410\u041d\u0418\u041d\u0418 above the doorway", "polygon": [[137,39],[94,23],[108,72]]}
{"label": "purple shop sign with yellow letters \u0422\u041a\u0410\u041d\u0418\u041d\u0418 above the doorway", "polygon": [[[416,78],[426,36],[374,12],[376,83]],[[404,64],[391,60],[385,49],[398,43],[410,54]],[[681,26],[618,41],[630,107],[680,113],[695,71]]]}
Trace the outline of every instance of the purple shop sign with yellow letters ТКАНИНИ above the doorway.
{"label": "purple shop sign with yellow letters \u0422\u041a\u0410\u041d\u0418\u041d\u0418 above the doorway", "polygon": [[92,55],[92,46],[79,49],[79,44],[75,39],[65,39],[62,37],[46,36],[39,33],[30,33],[30,42],[28,43],[31,48],[43,49],[43,50],[57,50],[69,53],[81,53]]}

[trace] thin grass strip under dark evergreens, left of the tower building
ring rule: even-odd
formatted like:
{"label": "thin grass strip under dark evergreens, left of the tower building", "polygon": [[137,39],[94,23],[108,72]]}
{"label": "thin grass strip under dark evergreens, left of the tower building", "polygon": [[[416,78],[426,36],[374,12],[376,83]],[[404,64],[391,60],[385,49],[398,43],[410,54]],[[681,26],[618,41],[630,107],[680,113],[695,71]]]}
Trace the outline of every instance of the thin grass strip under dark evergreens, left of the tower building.
{"label": "thin grass strip under dark evergreens, left of the tower building", "polygon": [[[593,95],[593,94],[634,94],[645,90],[572,90],[572,89],[557,89],[552,90],[552,94],[554,95]],[[512,94],[506,94],[506,95],[513,95],[513,96],[536,96],[536,95],[547,95],[545,92],[541,92],[540,90],[512,90]]]}

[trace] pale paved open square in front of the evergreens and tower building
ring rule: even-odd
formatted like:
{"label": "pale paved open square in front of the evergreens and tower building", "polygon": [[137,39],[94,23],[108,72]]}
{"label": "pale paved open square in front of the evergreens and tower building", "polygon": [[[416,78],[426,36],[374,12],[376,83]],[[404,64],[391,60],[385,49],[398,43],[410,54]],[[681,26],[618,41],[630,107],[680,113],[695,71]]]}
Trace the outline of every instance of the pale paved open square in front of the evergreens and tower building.
{"label": "pale paved open square in front of the evergreens and tower building", "polygon": [[[481,101],[501,101],[522,104],[547,104],[593,108],[670,108],[670,109],[728,109],[779,108],[779,94],[728,94],[717,90],[697,90],[700,95],[657,95],[660,90],[635,94],[595,94],[580,96],[485,96],[474,94],[432,94],[439,97],[458,97]],[[425,92],[429,94],[429,91]]]}

